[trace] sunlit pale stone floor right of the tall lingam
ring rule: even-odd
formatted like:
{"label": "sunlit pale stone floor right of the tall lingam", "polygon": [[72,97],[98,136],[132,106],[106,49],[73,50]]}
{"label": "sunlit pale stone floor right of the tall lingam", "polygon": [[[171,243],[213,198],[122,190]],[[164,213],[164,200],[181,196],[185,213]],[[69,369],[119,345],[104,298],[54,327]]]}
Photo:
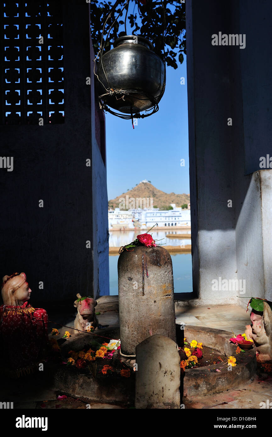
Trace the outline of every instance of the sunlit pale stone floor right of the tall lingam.
{"label": "sunlit pale stone floor right of the tall lingam", "polygon": [[244,333],[245,325],[250,325],[250,311],[238,305],[213,305],[208,307],[175,306],[176,323],[223,329],[237,334]]}

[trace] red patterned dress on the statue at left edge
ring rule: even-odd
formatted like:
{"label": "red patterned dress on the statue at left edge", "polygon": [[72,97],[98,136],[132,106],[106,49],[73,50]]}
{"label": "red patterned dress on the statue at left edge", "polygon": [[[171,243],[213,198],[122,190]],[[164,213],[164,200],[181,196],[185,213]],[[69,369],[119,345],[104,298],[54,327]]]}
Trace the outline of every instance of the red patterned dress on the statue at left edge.
{"label": "red patterned dress on the statue at left edge", "polygon": [[47,312],[28,302],[0,306],[0,366],[6,375],[19,377],[38,366],[48,344],[47,323]]}

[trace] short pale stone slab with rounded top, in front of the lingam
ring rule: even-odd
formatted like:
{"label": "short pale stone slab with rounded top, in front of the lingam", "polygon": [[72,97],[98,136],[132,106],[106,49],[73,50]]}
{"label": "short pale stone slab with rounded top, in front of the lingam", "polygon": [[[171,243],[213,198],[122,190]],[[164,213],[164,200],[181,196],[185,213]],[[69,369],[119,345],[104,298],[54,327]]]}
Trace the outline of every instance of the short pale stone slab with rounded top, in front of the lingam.
{"label": "short pale stone slab with rounded top, in front of the lingam", "polygon": [[135,408],[180,408],[180,357],[176,343],[153,335],[136,346]]}

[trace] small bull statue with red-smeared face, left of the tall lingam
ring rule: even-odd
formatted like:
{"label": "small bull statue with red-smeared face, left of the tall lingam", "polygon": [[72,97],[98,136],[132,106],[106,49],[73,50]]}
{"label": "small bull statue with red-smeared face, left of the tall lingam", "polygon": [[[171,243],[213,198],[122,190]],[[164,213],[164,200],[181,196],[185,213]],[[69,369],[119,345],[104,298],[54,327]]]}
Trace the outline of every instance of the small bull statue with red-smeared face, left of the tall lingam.
{"label": "small bull statue with red-smeared face, left of the tall lingam", "polygon": [[81,297],[77,293],[77,300],[73,306],[77,308],[77,316],[74,321],[74,328],[78,331],[88,331],[91,326],[98,327],[98,318],[95,315],[94,307],[97,305],[96,300],[87,296]]}

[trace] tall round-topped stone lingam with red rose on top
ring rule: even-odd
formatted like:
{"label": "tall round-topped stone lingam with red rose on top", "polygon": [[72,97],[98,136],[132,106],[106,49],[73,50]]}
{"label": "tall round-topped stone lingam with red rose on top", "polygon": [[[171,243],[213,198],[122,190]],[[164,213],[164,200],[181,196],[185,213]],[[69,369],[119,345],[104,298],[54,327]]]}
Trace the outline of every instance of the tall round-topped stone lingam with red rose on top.
{"label": "tall round-topped stone lingam with red rose on top", "polygon": [[[131,249],[132,250],[132,249]],[[173,268],[163,247],[134,247],[118,260],[121,354],[154,334],[176,341]]]}

